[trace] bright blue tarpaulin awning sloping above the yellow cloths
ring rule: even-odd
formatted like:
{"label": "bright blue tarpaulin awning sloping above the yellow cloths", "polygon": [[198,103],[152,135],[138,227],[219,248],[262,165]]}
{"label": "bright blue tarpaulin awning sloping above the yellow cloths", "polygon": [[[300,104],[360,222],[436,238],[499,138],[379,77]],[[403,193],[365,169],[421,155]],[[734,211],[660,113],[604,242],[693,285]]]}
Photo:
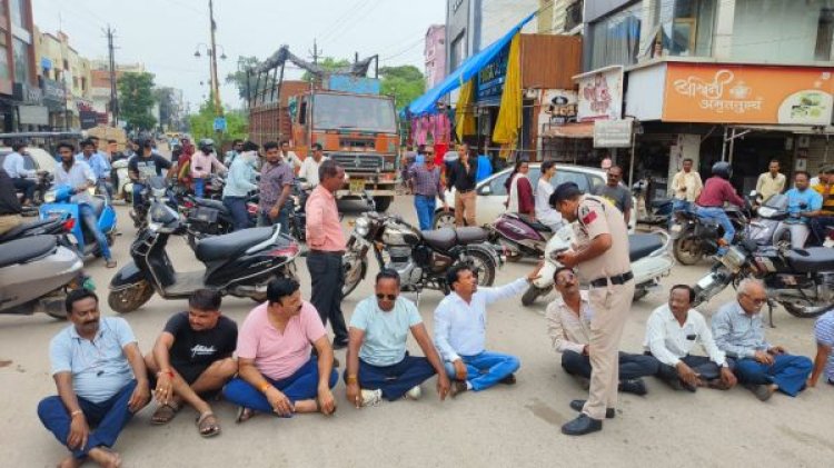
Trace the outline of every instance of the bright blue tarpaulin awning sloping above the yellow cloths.
{"label": "bright blue tarpaulin awning sloping above the yellow cloths", "polygon": [[408,112],[413,116],[419,116],[423,113],[435,112],[437,110],[437,101],[449,92],[460,88],[466,81],[469,81],[477,72],[486,67],[493,59],[504,49],[509,46],[513,37],[516,32],[520,31],[525,24],[527,24],[536,13],[530,13],[527,18],[523,19],[513,29],[507,31],[500,39],[487,46],[480,52],[469,57],[460,67],[449,73],[440,84],[426,91],[425,94],[415,99],[408,104]]}

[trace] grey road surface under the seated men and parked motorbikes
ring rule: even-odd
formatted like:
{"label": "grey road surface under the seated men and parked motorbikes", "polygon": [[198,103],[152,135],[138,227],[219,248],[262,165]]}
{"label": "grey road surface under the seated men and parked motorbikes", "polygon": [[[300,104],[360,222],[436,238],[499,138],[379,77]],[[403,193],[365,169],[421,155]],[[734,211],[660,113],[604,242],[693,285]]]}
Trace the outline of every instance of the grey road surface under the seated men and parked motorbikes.
{"label": "grey road surface under the seated men and parked motorbikes", "polygon": [[[346,209],[347,223],[357,207],[348,203]],[[390,210],[416,221],[409,197],[399,197]],[[122,266],[135,230],[126,207],[118,208],[118,216],[122,235],[113,251]],[[169,252],[178,269],[200,266],[185,243],[173,243]],[[309,297],[304,259],[298,266],[302,292]],[[106,299],[115,271],[105,269],[100,260],[88,261],[88,267]],[[530,268],[532,262],[509,263],[499,271],[497,282],[514,280]],[[636,302],[622,349],[642,350],[646,319],[666,300],[665,290],[674,283],[694,283],[705,270],[705,265],[676,267],[664,279],[663,291]],[[374,273],[371,270],[369,277]],[[345,300],[346,316],[349,318],[357,301],[371,292],[371,281],[366,280]],[[429,329],[440,299],[436,291],[423,295],[419,309]],[[732,299],[733,292],[724,291],[702,311],[711,316]],[[102,307],[103,315],[113,315],[106,300]],[[222,310],[241,323],[251,307],[249,300],[229,298]],[[155,296],[125,318],[147,352],[168,317],[185,308],[186,301]],[[559,368],[546,336],[543,309],[544,303],[522,307],[516,298],[489,310],[488,348],[522,360],[514,387],[499,386],[440,402],[435,379],[430,379],[420,401],[383,402],[356,410],[347,404],[339,382],[335,390],[339,410],[332,418],[259,416],[241,426],[234,424],[236,408],[219,402],[215,409],[224,432],[209,440],[198,436],[190,409],[168,426],[150,426],[151,404],[133,418],[115,448],[131,467],[831,466],[834,387],[823,384],[795,399],[776,395],[763,404],[743,388],[727,392],[704,389],[693,395],[674,392],[648,379],[648,396],[623,396],[616,419],[605,421],[603,432],[578,439],[563,436],[559,427],[575,417],[568,401],[585,398],[586,392]],[[780,309],[775,321],[777,328],[767,330],[771,342],[813,356],[813,320],[796,319]],[[2,466],[53,466],[66,455],[36,416],[38,401],[56,391],[49,376],[48,343],[64,326],[43,315],[0,316]],[[409,349],[419,354],[410,338]],[[344,362],[345,351],[337,351],[337,357]]]}

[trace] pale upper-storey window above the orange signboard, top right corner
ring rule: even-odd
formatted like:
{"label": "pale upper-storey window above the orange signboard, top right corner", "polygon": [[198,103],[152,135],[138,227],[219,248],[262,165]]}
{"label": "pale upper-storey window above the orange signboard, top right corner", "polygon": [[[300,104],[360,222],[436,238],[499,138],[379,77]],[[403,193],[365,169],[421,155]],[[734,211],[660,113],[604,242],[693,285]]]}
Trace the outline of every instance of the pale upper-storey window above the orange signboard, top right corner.
{"label": "pale upper-storey window above the orange signboard, top right corner", "polygon": [[832,60],[834,0],[736,0],[733,59]]}

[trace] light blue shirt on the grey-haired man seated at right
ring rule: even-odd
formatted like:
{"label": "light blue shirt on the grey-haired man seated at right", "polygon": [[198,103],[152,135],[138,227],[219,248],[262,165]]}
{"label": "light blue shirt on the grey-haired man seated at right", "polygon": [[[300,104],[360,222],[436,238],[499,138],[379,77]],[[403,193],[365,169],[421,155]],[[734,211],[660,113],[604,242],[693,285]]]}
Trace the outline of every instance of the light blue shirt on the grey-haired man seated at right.
{"label": "light blue shirt on the grey-haired man seated at right", "polygon": [[752,358],[756,351],[772,348],[764,337],[762,313],[748,316],[738,301],[722,306],[713,316],[712,326],[718,349],[735,354],[738,359]]}

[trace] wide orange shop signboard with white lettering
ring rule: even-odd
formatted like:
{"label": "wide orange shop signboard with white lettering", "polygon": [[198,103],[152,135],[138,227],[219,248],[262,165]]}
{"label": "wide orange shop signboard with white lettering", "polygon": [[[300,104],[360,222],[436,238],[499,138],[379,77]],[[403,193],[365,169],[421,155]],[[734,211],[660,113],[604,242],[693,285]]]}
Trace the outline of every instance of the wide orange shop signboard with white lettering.
{"label": "wide orange shop signboard with white lettering", "polygon": [[663,120],[668,122],[827,126],[831,68],[668,62]]}

